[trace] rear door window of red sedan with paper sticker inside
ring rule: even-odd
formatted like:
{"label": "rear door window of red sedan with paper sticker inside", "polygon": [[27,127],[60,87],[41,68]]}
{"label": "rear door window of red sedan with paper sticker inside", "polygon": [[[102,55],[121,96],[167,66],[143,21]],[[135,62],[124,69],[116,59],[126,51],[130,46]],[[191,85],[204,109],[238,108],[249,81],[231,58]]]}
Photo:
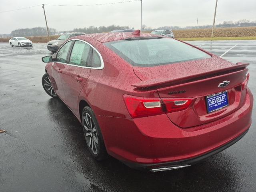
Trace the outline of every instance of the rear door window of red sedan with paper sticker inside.
{"label": "rear door window of red sedan with paper sticker inside", "polygon": [[82,41],[76,41],[71,55],[70,55],[70,64],[77,66],[88,66],[88,55],[90,52],[90,46]]}

